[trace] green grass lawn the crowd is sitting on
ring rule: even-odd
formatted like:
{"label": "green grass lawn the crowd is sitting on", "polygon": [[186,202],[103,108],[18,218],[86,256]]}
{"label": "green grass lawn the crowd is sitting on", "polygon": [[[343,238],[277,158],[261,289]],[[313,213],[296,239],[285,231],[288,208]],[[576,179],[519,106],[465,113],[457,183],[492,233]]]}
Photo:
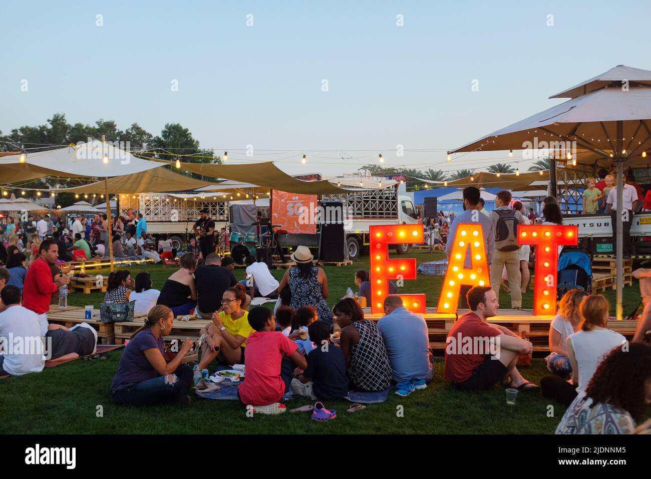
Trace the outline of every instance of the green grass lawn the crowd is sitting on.
{"label": "green grass lawn the crowd is sitting on", "polygon": [[[442,254],[409,252],[417,261],[440,259]],[[333,305],[353,286],[356,269],[368,269],[368,257],[349,267],[324,267],[328,277]],[[147,265],[129,268],[135,277],[149,270],[154,287],[160,289],[174,271]],[[106,272],[104,272],[106,273]],[[274,270],[281,278],[284,270]],[[243,278],[243,270],[235,270]],[[404,293],[426,293],[428,306],[436,306],[441,276],[419,275],[415,281],[406,280]],[[606,297],[614,302],[614,291]],[[83,295],[74,293],[68,304],[84,306],[98,304],[103,293]],[[523,298],[525,308],[532,307],[533,294]],[[628,313],[639,302],[637,283],[624,289],[624,311]],[[501,295],[508,307],[508,295]],[[518,404],[506,405],[505,391],[499,386],[481,393],[454,390],[443,380],[443,361],[437,358],[434,381],[423,391],[408,398],[391,394],[379,405],[348,414],[347,401],[327,403],[336,409],[337,419],[318,423],[309,414],[255,416],[247,418],[245,408],[237,401],[215,401],[193,396],[189,407],[117,407],[113,405],[110,384],[117,370],[122,351],[112,351],[104,360],[76,360],[44,370],[39,374],[10,377],[0,381],[0,433],[553,433],[564,407],[550,403],[539,393],[519,393]],[[533,366],[521,368],[524,377],[536,384],[547,374],[543,360],[534,359]],[[288,408],[310,403],[307,399],[292,399]],[[549,406],[553,417],[549,417]],[[103,416],[98,417],[98,407]],[[402,406],[402,408],[400,407]],[[402,410],[402,416],[398,413]]]}

